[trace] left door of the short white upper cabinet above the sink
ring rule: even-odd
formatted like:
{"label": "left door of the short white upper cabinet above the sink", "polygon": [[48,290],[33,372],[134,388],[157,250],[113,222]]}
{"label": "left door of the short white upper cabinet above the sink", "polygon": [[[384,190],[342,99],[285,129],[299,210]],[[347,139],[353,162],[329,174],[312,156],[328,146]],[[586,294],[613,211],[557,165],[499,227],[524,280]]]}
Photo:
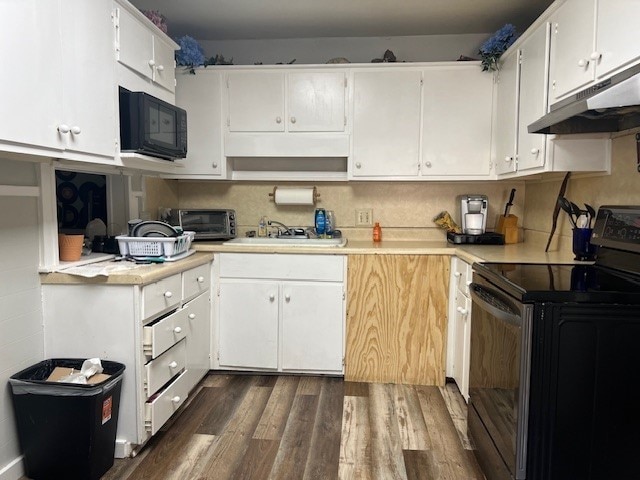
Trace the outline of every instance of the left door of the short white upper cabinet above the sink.
{"label": "left door of the short white upper cabinet above the sink", "polygon": [[283,73],[229,73],[227,90],[230,132],[284,131]]}

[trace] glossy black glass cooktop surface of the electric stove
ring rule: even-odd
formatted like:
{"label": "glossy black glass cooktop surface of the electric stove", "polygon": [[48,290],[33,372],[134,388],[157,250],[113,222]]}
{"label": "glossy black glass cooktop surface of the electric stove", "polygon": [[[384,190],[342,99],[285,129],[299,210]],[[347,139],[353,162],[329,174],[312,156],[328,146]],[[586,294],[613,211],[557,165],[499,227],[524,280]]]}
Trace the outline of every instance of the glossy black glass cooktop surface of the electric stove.
{"label": "glossy black glass cooktop surface of the electric stove", "polygon": [[640,276],[597,265],[474,264],[474,270],[523,302],[640,304]]}

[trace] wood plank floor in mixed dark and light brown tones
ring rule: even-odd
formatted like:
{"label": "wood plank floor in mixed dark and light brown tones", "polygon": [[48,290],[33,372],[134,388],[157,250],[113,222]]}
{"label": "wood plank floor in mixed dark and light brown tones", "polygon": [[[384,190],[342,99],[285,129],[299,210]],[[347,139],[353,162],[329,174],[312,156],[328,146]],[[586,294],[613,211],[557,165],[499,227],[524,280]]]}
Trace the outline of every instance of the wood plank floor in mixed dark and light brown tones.
{"label": "wood plank floor in mixed dark and light brown tones", "polygon": [[455,386],[209,375],[105,480],[483,479]]}

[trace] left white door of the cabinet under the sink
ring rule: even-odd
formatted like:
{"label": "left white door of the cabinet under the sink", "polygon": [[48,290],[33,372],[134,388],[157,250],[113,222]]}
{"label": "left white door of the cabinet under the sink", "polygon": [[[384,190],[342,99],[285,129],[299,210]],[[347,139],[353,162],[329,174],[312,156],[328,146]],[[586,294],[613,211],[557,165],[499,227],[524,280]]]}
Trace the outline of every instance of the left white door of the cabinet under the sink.
{"label": "left white door of the cabinet under the sink", "polygon": [[278,368],[278,284],[220,282],[221,367]]}

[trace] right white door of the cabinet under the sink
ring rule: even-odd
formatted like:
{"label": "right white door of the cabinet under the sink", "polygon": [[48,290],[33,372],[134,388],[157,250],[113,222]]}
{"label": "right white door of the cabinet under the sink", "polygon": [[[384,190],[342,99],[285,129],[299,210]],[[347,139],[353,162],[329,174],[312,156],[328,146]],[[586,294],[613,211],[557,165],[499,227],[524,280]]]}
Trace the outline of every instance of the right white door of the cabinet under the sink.
{"label": "right white door of the cabinet under the sink", "polygon": [[342,285],[282,285],[282,369],[342,372]]}

